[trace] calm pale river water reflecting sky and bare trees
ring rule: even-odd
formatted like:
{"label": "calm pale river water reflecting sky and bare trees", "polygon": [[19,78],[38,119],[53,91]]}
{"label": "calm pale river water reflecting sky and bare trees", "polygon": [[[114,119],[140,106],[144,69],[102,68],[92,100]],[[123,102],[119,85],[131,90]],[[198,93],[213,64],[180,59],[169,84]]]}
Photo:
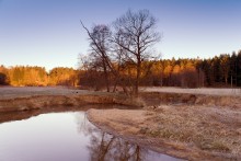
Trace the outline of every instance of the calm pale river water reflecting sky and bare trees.
{"label": "calm pale river water reflecting sky and bare trees", "polygon": [[101,131],[84,112],[55,112],[0,124],[0,161],[85,160],[179,159]]}

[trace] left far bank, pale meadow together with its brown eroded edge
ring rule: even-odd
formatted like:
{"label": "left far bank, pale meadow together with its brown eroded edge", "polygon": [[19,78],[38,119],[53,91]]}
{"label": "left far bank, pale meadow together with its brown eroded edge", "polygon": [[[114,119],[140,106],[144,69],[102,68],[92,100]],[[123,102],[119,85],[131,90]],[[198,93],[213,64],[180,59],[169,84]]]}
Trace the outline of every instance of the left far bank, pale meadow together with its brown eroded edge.
{"label": "left far bank, pale meadow together with its brown eroded edge", "polygon": [[81,107],[87,104],[120,104],[137,107],[144,105],[138,99],[131,99],[123,94],[65,88],[1,88],[0,93],[0,112],[53,106]]}

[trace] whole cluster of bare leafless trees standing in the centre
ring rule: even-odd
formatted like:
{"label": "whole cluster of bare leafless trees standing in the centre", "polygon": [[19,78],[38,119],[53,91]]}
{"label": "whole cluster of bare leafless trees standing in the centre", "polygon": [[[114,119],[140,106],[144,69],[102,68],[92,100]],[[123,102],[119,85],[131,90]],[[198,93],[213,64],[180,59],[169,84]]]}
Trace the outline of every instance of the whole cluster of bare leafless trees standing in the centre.
{"label": "whole cluster of bare leafless trees standing in the centre", "polygon": [[[147,10],[136,13],[129,10],[114,22],[114,35],[107,25],[94,25],[89,31],[81,24],[90,38],[92,65],[104,72],[107,91],[112,74],[113,91],[120,85],[128,94],[127,87],[131,87],[131,92],[137,95],[142,62],[153,56],[149,49],[160,41],[160,34],[154,31],[157,20]],[[128,73],[123,74],[126,71]]]}

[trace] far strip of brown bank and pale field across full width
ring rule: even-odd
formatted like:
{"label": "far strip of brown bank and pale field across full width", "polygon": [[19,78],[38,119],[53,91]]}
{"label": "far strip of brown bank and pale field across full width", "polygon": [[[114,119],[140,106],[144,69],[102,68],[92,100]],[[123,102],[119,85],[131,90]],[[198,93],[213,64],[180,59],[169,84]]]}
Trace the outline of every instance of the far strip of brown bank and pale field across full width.
{"label": "far strip of brown bank and pale field across full width", "polygon": [[[169,91],[170,90],[170,91]],[[177,93],[177,92],[182,93]],[[213,91],[213,90],[211,90]],[[188,104],[206,106],[229,106],[241,108],[241,95],[230,94],[230,89],[147,88],[140,99],[128,97],[119,93],[95,92],[61,87],[2,87],[0,88],[0,112],[43,108],[49,106],[82,106],[84,104],[120,104],[127,106],[148,106],[159,104]],[[229,94],[228,94],[229,93]]]}

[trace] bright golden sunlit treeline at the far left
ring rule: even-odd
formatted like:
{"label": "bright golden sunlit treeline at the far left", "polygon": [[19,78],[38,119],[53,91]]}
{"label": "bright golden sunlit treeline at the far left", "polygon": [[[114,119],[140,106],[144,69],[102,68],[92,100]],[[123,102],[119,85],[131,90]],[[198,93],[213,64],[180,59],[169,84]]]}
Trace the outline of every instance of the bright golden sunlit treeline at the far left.
{"label": "bright golden sunlit treeline at the far left", "polygon": [[43,67],[16,66],[5,68],[0,66],[0,85],[13,87],[46,87],[77,85],[77,70],[58,67],[49,72]]}

